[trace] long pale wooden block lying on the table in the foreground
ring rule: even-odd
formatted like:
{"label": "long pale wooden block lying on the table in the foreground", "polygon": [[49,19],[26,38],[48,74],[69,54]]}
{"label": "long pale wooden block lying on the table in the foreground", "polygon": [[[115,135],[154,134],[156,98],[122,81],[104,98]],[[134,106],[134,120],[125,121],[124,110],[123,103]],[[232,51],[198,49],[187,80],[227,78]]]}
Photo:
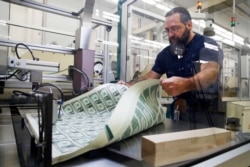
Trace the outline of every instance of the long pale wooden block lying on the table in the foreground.
{"label": "long pale wooden block lying on the table in the foreground", "polygon": [[150,166],[169,165],[206,155],[231,141],[231,132],[205,128],[142,137],[142,159]]}

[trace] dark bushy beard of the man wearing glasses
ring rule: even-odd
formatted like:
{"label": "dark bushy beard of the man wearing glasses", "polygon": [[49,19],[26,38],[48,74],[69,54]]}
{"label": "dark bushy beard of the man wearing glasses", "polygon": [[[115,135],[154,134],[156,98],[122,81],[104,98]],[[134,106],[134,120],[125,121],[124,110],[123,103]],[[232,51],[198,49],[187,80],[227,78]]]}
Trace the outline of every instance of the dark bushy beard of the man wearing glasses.
{"label": "dark bushy beard of the man wearing glasses", "polygon": [[[172,54],[174,55],[183,55],[184,51],[185,51],[185,45],[188,42],[190,36],[190,30],[188,30],[187,28],[185,29],[182,37],[180,38],[172,38],[169,39],[170,42],[170,50],[172,52]],[[173,42],[173,40],[175,42]]]}

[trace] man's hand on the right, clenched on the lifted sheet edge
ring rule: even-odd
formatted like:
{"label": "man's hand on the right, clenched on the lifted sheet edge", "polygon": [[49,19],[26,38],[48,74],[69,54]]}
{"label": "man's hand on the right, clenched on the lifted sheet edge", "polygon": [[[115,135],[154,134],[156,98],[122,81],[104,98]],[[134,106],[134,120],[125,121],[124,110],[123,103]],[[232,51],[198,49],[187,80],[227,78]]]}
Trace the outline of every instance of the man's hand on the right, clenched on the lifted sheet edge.
{"label": "man's hand on the right, clenched on the lifted sheet edge", "polygon": [[190,80],[188,78],[182,77],[171,77],[167,79],[162,79],[160,82],[162,89],[168,93],[170,96],[178,96],[184,92],[189,91],[188,85]]}

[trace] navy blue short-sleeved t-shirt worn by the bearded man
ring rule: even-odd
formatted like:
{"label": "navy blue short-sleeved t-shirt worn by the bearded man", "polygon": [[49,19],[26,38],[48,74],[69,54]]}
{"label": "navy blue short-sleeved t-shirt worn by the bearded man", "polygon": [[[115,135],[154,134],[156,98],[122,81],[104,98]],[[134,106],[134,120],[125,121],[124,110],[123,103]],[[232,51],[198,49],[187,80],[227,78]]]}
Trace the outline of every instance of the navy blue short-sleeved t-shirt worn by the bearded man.
{"label": "navy blue short-sleeved t-shirt worn by the bearded man", "polygon": [[[166,74],[168,78],[172,76],[192,77],[199,72],[200,64],[207,61],[217,62],[222,67],[223,52],[215,40],[195,34],[194,38],[185,47],[182,58],[174,55],[170,50],[170,46],[167,46],[157,55],[152,70],[158,74]],[[217,94],[219,89],[220,82],[218,78],[216,83],[198,93],[205,94],[209,98],[210,95]],[[190,96],[193,96],[194,93],[197,94],[197,91],[184,93],[180,97],[190,99]]]}

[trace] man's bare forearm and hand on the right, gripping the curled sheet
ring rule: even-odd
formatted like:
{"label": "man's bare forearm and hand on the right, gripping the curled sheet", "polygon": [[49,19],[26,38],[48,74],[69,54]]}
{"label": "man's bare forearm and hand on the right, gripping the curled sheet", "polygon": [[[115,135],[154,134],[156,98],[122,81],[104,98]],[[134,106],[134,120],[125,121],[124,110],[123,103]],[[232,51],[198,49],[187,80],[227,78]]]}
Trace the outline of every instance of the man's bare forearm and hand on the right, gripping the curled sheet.
{"label": "man's bare forearm and hand on the right, gripping the curled sheet", "polygon": [[161,80],[162,89],[171,96],[177,96],[191,90],[207,88],[218,79],[220,65],[216,62],[201,64],[199,73],[190,78],[171,77]]}

